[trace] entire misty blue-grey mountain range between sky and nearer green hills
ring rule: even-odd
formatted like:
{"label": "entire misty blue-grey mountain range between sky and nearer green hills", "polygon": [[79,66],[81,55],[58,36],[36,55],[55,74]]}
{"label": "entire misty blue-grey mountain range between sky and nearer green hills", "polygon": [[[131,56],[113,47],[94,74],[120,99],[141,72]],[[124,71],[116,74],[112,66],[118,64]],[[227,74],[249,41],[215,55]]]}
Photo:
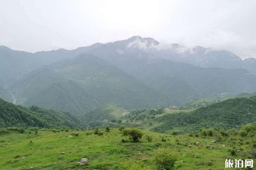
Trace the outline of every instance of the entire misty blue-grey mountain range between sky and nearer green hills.
{"label": "entire misty blue-grey mountain range between sky and nearer green hills", "polygon": [[0,60],[0,98],[73,114],[103,104],[166,107],[256,91],[254,58],[140,36],[36,53],[0,46]]}

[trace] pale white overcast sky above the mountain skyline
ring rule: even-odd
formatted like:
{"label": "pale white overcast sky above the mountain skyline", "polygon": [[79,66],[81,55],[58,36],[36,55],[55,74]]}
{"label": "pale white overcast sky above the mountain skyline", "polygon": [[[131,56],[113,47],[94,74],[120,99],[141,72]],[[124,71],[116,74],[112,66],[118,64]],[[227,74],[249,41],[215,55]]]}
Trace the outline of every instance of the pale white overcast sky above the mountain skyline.
{"label": "pale white overcast sky above the mountain skyline", "polygon": [[256,0],[0,0],[0,45],[15,50],[133,35],[256,57]]}

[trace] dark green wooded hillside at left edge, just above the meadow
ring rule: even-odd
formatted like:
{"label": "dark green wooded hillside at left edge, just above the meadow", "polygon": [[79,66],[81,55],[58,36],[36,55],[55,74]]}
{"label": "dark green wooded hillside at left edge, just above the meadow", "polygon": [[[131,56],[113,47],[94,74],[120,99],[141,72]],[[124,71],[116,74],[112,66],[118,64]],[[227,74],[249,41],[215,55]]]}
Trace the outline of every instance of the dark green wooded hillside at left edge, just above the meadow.
{"label": "dark green wooded hillside at left edge, just above the meadow", "polygon": [[0,127],[80,127],[69,113],[14,105],[0,99]]}

